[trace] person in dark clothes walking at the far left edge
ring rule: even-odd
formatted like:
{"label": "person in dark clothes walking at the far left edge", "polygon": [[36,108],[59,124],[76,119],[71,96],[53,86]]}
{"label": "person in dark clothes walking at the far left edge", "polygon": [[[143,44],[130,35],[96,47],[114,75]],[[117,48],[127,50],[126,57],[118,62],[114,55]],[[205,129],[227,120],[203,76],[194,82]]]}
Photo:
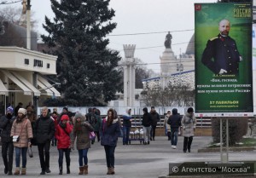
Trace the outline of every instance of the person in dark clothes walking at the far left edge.
{"label": "person in dark clothes walking at the far left edge", "polygon": [[13,175],[14,144],[10,136],[12,125],[15,121],[13,113],[13,107],[9,106],[6,110],[6,114],[0,119],[4,174],[8,173],[8,175]]}

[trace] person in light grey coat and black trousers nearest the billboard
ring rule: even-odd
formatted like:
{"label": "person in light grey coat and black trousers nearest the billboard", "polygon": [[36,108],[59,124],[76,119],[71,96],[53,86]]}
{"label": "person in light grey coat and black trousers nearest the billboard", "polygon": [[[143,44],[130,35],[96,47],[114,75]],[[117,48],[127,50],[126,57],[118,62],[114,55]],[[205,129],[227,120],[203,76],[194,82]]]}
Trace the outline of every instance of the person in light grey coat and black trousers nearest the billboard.
{"label": "person in light grey coat and black trousers nearest the billboard", "polygon": [[194,109],[192,107],[189,107],[187,112],[183,115],[181,124],[183,127],[183,137],[184,137],[183,152],[187,152],[187,150],[188,152],[190,152],[193,136],[195,133],[195,125],[196,125]]}

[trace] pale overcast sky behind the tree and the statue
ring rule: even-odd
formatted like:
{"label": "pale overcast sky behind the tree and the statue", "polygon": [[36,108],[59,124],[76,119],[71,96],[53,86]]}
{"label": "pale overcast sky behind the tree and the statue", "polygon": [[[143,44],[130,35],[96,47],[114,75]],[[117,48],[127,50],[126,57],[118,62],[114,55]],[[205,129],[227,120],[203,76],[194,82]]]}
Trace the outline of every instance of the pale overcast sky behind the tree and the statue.
{"label": "pale overcast sky behind the tree and the statue", "polygon": [[[194,3],[216,3],[216,1],[111,0],[110,8],[115,10],[112,21],[117,23],[117,27],[108,36],[110,39],[108,47],[120,51],[120,56],[124,58],[123,44],[136,44],[134,56],[148,64],[146,65],[148,69],[160,72],[160,56],[165,50],[164,42],[167,32],[172,34],[174,55],[183,54],[194,33]],[[31,0],[31,4],[35,20],[38,20],[38,33],[47,34],[42,27],[44,16],[50,19],[55,16],[50,8],[50,1]],[[10,6],[22,7],[21,3]],[[137,33],[147,34],[138,35]]]}

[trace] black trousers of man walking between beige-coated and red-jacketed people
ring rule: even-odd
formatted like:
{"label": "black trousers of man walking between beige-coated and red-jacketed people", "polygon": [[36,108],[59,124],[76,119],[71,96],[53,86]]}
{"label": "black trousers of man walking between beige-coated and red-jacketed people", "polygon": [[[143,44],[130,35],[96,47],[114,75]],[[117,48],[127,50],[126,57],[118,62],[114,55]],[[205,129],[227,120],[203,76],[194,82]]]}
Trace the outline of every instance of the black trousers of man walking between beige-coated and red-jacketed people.
{"label": "black trousers of man walking between beige-coated and red-jacketed people", "polygon": [[38,143],[38,153],[42,170],[49,169],[49,145],[50,141]]}

